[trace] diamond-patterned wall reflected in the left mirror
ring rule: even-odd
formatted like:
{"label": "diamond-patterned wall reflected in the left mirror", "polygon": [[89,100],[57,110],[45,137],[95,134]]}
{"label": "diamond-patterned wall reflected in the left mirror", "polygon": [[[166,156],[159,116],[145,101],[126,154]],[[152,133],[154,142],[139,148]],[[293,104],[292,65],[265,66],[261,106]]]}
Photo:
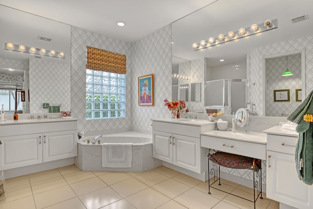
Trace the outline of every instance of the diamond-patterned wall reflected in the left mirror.
{"label": "diamond-patterned wall reflected in the left mirror", "polygon": [[70,111],[70,65],[29,60],[30,113],[48,113],[42,103],[61,104],[60,111]]}

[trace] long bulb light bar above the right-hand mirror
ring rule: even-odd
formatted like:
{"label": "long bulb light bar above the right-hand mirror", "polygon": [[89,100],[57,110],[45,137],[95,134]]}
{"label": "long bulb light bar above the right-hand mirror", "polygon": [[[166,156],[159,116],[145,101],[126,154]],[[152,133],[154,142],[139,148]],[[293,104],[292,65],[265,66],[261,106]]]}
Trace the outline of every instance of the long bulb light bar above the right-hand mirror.
{"label": "long bulb light bar above the right-hand mirror", "polygon": [[230,41],[239,41],[242,38],[249,38],[251,35],[261,35],[262,32],[277,28],[278,20],[266,20],[264,23],[252,24],[250,27],[240,28],[237,31],[229,31],[227,34],[220,34],[217,38],[210,37],[207,41],[200,41],[199,44],[193,43],[192,47],[195,51],[211,48],[212,46],[220,46]]}

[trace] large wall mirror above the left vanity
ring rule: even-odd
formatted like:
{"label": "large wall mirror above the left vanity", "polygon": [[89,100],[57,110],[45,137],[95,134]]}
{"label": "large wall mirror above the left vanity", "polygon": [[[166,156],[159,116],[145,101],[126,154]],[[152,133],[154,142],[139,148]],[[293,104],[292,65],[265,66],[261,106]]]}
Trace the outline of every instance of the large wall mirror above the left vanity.
{"label": "large wall mirror above the left vanity", "polygon": [[[47,113],[43,103],[69,111],[71,26],[4,5],[0,14],[0,100],[5,111],[12,113],[15,103],[10,89],[25,91],[25,102],[16,98],[19,113]],[[64,52],[65,59],[5,50],[4,43]]]}

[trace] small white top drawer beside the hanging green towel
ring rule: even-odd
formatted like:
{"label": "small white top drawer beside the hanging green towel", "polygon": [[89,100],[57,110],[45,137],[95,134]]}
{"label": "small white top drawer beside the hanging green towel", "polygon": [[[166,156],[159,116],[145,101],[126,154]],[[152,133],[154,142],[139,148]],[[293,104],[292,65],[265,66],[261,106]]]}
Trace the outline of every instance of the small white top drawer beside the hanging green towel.
{"label": "small white top drawer beside the hanging green towel", "polygon": [[268,134],[267,150],[294,155],[297,142],[297,137]]}

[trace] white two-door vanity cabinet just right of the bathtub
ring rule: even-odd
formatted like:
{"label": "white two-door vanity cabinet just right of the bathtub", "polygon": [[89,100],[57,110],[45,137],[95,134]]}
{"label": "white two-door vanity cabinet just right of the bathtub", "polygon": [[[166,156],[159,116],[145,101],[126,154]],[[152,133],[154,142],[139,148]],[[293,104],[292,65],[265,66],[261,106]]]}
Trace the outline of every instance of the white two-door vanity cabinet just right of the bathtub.
{"label": "white two-door vanity cabinet just right of the bathtub", "polygon": [[153,121],[153,157],[196,173],[206,170],[207,149],[201,148],[200,134],[216,124],[190,125]]}

